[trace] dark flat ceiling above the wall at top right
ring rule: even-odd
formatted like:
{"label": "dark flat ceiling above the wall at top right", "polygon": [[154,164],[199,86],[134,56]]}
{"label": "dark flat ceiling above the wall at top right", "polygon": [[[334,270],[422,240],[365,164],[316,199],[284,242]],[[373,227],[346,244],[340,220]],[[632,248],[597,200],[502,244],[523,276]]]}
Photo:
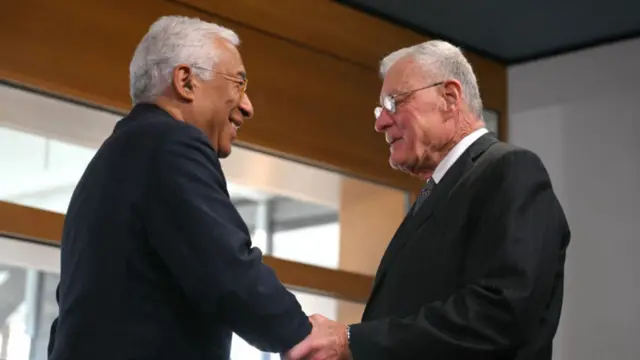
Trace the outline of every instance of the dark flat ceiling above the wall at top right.
{"label": "dark flat ceiling above the wall at top right", "polygon": [[637,0],[339,0],[508,64],[640,36]]}

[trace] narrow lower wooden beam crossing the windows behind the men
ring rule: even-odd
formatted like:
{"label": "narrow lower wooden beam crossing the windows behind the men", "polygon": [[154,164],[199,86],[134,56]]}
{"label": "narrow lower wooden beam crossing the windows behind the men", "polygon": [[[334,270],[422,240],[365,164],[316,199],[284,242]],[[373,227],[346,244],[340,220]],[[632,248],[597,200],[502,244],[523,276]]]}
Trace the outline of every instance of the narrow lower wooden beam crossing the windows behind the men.
{"label": "narrow lower wooden beam crossing the windows behind the men", "polygon": [[[60,244],[64,215],[0,201],[0,235]],[[264,256],[287,286],[354,302],[366,302],[373,277]]]}

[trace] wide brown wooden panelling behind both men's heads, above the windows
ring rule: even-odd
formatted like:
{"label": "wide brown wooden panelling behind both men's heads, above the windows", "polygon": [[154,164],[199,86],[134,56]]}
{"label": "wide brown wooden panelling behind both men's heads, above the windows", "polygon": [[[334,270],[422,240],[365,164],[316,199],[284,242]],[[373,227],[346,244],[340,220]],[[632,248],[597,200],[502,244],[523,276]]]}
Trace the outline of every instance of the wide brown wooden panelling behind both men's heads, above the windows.
{"label": "wide brown wooden panelling behind both men's heads, above the windows", "polygon": [[[8,2],[0,13],[0,76],[126,112],[128,64],[149,25],[161,15],[198,16],[242,39],[256,107],[243,144],[397,188],[420,187],[389,168],[372,109],[380,57],[426,38],[331,1],[181,1]],[[485,103],[504,116],[504,67],[471,59]]]}

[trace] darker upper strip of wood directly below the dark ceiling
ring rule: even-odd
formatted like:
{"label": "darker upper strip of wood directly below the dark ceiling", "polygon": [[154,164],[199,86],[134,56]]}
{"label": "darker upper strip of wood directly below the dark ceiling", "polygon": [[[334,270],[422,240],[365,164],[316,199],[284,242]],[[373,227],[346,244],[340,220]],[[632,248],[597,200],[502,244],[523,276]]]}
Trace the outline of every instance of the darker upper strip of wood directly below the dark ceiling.
{"label": "darker upper strip of wood directly below the dark ceiling", "polygon": [[[378,71],[380,60],[397,49],[431,38],[330,0],[175,0],[273,34],[299,46],[328,53]],[[506,67],[466,52],[481,84],[487,108],[506,114]],[[379,88],[376,88],[379,91]],[[376,101],[372,99],[373,101]]]}

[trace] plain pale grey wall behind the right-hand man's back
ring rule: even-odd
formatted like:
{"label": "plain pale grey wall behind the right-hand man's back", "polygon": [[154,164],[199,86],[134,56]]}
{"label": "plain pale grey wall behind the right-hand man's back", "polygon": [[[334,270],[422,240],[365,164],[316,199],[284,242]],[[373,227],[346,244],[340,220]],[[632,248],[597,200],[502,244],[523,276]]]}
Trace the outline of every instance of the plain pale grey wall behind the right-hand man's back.
{"label": "plain pale grey wall behind the right-hand man's back", "polygon": [[509,108],[573,233],[554,359],[640,359],[640,39],[510,68]]}

